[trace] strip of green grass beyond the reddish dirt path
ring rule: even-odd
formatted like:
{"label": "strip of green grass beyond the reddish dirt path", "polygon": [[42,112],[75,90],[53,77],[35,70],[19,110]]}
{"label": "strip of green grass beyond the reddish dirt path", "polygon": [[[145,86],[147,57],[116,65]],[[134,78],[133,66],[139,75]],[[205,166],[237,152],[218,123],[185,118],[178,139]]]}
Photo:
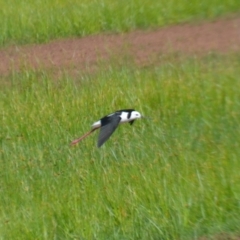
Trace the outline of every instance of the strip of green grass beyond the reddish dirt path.
{"label": "strip of green grass beyond the reddish dirt path", "polygon": [[231,0],[0,0],[0,46],[124,32],[240,12]]}

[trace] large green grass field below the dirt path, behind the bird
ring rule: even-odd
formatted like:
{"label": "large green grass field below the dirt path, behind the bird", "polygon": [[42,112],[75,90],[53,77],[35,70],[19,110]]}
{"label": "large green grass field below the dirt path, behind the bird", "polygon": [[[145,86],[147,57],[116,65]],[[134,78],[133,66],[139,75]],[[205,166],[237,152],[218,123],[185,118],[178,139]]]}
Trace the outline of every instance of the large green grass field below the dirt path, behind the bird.
{"label": "large green grass field below the dirt path, behind the bird", "polygon": [[[239,57],[1,88],[1,239],[197,239],[239,233]],[[3,80],[2,80],[3,81]],[[99,117],[151,120],[69,143]]]}

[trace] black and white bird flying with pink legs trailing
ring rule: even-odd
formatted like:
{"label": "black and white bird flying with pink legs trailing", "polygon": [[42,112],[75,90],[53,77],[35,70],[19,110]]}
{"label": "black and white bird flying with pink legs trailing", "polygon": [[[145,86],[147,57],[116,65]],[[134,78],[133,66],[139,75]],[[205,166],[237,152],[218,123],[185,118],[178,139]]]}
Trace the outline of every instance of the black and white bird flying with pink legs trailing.
{"label": "black and white bird flying with pink legs trailing", "polygon": [[116,130],[118,124],[129,122],[132,125],[136,119],[142,118],[142,117],[143,116],[139,112],[135,111],[134,109],[118,110],[114,113],[111,113],[109,115],[102,117],[100,120],[93,123],[92,130],[85,133],[80,138],[73,140],[71,142],[71,145],[77,144],[78,142],[82,141],[84,138],[89,136],[92,132],[101,128],[99,137],[98,137],[98,144],[97,144],[98,147],[101,147]]}

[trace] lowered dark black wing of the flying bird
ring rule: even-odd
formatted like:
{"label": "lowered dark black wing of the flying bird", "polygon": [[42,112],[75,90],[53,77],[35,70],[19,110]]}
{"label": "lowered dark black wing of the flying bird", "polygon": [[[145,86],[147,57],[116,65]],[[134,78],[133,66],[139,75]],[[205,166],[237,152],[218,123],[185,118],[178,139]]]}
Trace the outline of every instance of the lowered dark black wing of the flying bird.
{"label": "lowered dark black wing of the flying bird", "polygon": [[99,133],[98,147],[101,147],[110,138],[121,120],[119,114],[113,114],[107,118],[107,123],[101,127]]}

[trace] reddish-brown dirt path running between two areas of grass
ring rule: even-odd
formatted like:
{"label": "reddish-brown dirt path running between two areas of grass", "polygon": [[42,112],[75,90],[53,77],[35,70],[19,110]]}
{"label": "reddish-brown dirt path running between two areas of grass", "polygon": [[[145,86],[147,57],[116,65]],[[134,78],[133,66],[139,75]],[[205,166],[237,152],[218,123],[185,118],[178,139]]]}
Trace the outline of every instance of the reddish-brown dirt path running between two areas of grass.
{"label": "reddish-brown dirt path running between two areas of grass", "polygon": [[161,54],[226,53],[240,51],[240,17],[214,22],[183,24],[122,35],[97,35],[63,39],[47,44],[12,46],[0,50],[0,75],[19,70],[24,64],[34,69],[94,69],[99,59],[128,55],[137,64],[151,64]]}

